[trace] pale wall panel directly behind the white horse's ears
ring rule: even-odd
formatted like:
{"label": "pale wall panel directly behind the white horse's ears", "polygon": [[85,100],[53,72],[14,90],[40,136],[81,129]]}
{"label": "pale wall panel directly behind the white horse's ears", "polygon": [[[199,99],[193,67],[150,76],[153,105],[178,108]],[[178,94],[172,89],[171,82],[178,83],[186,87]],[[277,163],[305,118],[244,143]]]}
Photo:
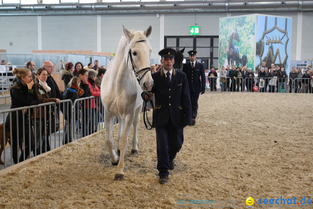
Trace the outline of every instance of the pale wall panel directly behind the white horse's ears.
{"label": "pale wall panel directly behind the white horse's ears", "polygon": [[152,34],[149,38],[152,47],[151,59],[159,59],[160,18],[157,18],[156,14],[101,15],[101,51],[117,51],[123,34],[123,25],[129,30],[146,30],[151,25]]}

